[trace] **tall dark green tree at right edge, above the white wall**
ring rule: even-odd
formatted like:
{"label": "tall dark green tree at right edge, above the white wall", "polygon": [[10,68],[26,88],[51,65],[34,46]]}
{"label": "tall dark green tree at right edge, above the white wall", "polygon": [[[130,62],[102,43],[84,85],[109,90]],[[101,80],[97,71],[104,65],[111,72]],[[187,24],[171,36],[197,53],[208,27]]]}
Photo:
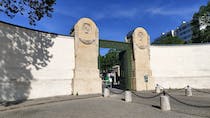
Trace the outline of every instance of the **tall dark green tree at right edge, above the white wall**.
{"label": "tall dark green tree at right edge, above the white wall", "polygon": [[210,28],[200,30],[199,19],[202,18],[205,23],[210,23],[210,2],[206,6],[201,6],[197,13],[194,13],[191,22],[192,25],[192,43],[205,43],[210,42]]}

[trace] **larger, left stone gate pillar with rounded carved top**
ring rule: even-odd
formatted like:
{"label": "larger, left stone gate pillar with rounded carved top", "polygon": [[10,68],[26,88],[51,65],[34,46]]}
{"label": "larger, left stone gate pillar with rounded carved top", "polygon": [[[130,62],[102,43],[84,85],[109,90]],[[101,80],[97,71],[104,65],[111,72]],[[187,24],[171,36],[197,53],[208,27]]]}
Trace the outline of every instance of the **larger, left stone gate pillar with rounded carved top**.
{"label": "larger, left stone gate pillar with rounded carved top", "polygon": [[71,32],[75,44],[75,70],[73,94],[102,93],[102,80],[98,70],[99,31],[88,18],[80,19]]}

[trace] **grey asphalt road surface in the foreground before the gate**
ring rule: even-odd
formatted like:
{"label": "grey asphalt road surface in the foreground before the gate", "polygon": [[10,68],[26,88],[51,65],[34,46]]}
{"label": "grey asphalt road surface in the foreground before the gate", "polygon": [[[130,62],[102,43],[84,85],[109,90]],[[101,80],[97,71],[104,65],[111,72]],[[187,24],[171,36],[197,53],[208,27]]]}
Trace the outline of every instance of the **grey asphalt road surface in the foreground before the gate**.
{"label": "grey asphalt road surface in the foreground before the gate", "polygon": [[[210,106],[210,94],[195,93],[184,96],[184,91],[169,91],[176,98],[195,105]],[[152,92],[138,93],[153,96]],[[0,112],[0,118],[210,118],[210,108],[190,107],[172,99],[171,111],[160,110],[160,97],[142,99],[133,95],[133,102],[126,103],[123,94],[110,98],[88,98],[42,104]]]}

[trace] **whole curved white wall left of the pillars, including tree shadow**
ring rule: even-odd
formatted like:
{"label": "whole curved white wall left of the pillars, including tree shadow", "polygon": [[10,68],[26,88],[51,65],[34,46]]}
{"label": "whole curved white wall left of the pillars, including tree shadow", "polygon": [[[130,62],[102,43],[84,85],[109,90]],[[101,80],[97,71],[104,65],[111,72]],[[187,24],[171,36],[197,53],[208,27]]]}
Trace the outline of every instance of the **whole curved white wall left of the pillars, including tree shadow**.
{"label": "whole curved white wall left of the pillars, including tree shadow", "polygon": [[0,22],[0,102],[71,95],[74,38]]}

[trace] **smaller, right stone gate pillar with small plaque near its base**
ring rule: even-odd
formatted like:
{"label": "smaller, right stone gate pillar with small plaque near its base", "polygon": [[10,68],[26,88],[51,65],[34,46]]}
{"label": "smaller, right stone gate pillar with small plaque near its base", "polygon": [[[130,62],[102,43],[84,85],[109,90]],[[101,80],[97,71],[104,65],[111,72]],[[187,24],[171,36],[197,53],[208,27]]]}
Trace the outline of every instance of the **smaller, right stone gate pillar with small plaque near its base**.
{"label": "smaller, right stone gate pillar with small plaque near its base", "polygon": [[135,90],[154,90],[155,84],[150,68],[150,39],[144,28],[136,28],[127,41],[133,43],[135,80],[133,85]]}

